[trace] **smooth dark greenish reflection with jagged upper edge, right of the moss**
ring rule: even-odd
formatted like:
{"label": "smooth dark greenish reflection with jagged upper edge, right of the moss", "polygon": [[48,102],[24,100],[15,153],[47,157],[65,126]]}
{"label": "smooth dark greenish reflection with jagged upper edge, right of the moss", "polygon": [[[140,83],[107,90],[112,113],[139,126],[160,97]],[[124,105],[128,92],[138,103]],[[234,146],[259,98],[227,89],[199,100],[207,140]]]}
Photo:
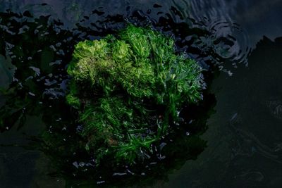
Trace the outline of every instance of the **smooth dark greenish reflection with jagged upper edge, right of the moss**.
{"label": "smooth dark greenish reflection with jagged upper edge, right of the moss", "polygon": [[250,54],[248,68],[214,80],[216,113],[202,137],[207,149],[161,187],[280,186],[281,47],[281,37],[264,37]]}

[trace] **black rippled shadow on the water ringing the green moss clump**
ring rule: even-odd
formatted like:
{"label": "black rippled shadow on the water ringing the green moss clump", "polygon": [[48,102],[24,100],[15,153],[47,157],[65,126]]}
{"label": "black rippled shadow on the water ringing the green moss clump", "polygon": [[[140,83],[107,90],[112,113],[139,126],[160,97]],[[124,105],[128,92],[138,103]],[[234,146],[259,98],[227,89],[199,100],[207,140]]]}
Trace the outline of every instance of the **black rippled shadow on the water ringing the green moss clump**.
{"label": "black rippled shadow on the water ringing the green moss clump", "polygon": [[[155,4],[154,8],[159,6]],[[221,27],[216,29],[216,24],[210,30],[192,18],[190,22],[181,21],[183,15],[176,7],[171,7],[171,13],[161,13],[158,19],[151,18],[149,11],[127,9],[128,15],[105,15],[102,10],[95,9],[82,20],[78,20],[80,15],[73,17],[78,20],[73,29],[66,29],[64,23],[52,20],[49,15],[35,17],[30,11],[0,13],[1,80],[2,77],[5,80],[1,82],[1,134],[25,129],[30,117],[41,118],[31,121],[30,126],[40,125],[41,128],[37,127],[37,133],[32,131],[26,135],[30,143],[5,142],[1,146],[42,151],[54,167],[45,173],[63,177],[66,187],[89,187],[90,184],[119,184],[124,187],[125,184],[167,180],[171,170],[180,168],[187,160],[196,159],[204,151],[206,142],[200,135],[207,130],[206,122],[216,102],[214,95],[207,90],[202,103],[183,109],[181,115],[185,126],[164,138],[156,148],[156,155],[142,165],[115,166],[104,161],[102,167],[97,167],[77,134],[80,131],[80,125],[75,122],[77,114],[64,99],[69,79],[66,67],[76,43],[115,34],[127,22],[152,25],[156,30],[175,37],[178,50],[186,51],[201,63],[207,70],[204,76],[208,86],[218,70],[231,73],[223,67],[223,61],[236,63],[237,59],[237,63],[244,63],[249,53],[249,50],[233,53],[237,50],[233,49],[237,45],[235,37],[216,35],[216,30],[221,30]],[[90,21],[91,17],[96,17],[97,21]],[[175,21],[176,17],[180,22]],[[224,24],[218,23],[227,27]]]}

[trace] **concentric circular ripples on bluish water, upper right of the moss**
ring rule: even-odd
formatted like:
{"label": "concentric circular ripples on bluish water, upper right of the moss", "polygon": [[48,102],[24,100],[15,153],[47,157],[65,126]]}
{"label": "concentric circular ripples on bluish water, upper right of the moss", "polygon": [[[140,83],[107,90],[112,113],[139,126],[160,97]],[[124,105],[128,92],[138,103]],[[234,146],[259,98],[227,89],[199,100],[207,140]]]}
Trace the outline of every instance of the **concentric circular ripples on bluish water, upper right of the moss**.
{"label": "concentric circular ripples on bluish water, upper right of the moss", "polygon": [[232,66],[247,65],[247,56],[251,52],[247,32],[231,18],[235,4],[227,4],[223,0],[173,1],[182,20],[190,23],[191,27],[210,32],[200,37],[196,45],[202,49],[202,54],[209,54],[212,62],[230,75]]}

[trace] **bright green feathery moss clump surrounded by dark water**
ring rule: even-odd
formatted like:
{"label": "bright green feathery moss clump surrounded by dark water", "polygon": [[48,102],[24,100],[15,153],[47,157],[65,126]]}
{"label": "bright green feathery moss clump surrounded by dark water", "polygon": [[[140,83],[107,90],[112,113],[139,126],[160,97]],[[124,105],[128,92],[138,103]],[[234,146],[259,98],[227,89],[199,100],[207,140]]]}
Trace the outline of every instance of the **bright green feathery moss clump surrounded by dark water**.
{"label": "bright green feathery moss clump surrounded by dark water", "polygon": [[66,99],[79,109],[85,149],[98,163],[105,156],[127,163],[148,158],[181,108],[201,99],[200,66],[173,46],[160,32],[133,25],[75,46]]}

